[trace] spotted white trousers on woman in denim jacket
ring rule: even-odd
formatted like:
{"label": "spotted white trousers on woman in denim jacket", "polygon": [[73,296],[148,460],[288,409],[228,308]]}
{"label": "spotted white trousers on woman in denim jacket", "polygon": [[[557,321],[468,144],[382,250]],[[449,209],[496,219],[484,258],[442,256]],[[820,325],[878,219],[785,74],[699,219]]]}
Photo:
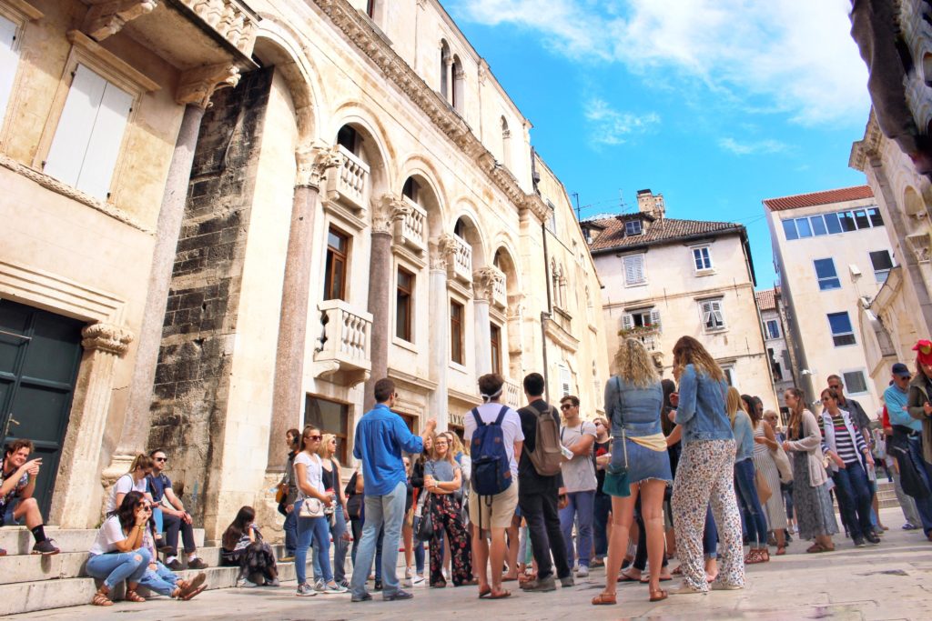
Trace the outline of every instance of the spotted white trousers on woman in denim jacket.
{"label": "spotted white trousers on woman in denim jacket", "polygon": [[721,542],[717,581],[743,587],[744,548],[741,543],[741,514],[734,495],[733,439],[692,440],[687,443],[673,482],[673,526],[677,533],[683,581],[703,591],[708,590],[702,535],[709,502]]}

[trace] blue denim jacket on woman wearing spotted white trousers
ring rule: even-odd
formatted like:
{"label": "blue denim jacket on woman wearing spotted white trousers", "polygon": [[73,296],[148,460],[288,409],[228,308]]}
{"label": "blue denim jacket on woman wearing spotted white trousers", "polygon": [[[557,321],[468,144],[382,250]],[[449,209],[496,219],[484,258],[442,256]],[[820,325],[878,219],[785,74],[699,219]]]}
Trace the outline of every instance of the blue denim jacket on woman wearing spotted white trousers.
{"label": "blue denim jacket on woman wearing spotted white trousers", "polygon": [[728,384],[716,382],[705,373],[686,365],[679,377],[677,424],[683,425],[683,443],[697,439],[733,439],[731,422],[725,413]]}

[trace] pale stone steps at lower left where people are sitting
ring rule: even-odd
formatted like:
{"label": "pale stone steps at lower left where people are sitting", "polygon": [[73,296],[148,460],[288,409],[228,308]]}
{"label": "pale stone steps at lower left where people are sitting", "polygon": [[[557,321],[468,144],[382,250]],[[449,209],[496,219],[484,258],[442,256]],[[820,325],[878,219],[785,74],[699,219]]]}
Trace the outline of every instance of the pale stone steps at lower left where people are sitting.
{"label": "pale stone steps at lower left where people are sitting", "polygon": [[[7,550],[7,556],[0,557],[0,616],[86,604],[97,590],[95,580],[85,572],[88,549],[97,531],[46,526],[46,534],[62,549],[60,554],[48,557],[30,554],[32,533],[23,527],[0,529],[0,547]],[[201,547],[204,543],[202,529],[195,529],[195,542],[198,556],[210,565],[204,570],[208,588],[235,587],[239,568],[219,566],[220,548]],[[281,557],[281,547],[274,548]],[[308,576],[313,574],[310,565],[308,555]],[[294,562],[279,561],[278,567],[282,582],[295,579]],[[185,570],[178,574],[190,578],[197,572]],[[146,595],[144,589],[140,589],[140,594]]]}

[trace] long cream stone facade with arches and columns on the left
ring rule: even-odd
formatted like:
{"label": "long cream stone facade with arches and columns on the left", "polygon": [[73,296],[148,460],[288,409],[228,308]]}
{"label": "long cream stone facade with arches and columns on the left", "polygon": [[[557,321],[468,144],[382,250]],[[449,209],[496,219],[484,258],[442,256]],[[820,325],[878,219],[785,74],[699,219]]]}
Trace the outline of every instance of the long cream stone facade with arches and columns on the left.
{"label": "long cream stone facade with arches and columns on the left", "polygon": [[[487,371],[513,405],[545,371],[551,398],[599,407],[583,233],[528,119],[435,0],[0,0],[0,15],[17,59],[0,330],[46,319],[75,359],[52,522],[96,523],[88,499],[162,446],[208,538],[242,505],[269,523],[285,431],[335,433],[350,466],[379,377],[415,430],[461,425]],[[131,96],[124,138],[89,160],[114,162],[109,185],[47,164],[88,77],[75,62],[107,101]]]}

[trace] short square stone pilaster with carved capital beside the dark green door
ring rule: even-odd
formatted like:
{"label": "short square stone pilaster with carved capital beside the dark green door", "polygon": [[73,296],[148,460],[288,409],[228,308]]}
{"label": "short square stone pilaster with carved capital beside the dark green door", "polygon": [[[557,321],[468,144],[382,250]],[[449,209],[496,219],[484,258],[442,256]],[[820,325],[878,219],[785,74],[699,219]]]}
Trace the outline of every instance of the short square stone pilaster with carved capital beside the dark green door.
{"label": "short square stone pilaster with carved capital beside the dark green door", "polygon": [[100,506],[89,501],[100,489],[97,473],[101,442],[114,390],[117,358],[126,355],[132,342],[130,331],[105,323],[89,325],[81,336],[84,355],[62,447],[62,467],[56,479],[55,489],[59,493],[52,498],[48,517],[50,523],[63,528],[88,528],[100,517]]}

